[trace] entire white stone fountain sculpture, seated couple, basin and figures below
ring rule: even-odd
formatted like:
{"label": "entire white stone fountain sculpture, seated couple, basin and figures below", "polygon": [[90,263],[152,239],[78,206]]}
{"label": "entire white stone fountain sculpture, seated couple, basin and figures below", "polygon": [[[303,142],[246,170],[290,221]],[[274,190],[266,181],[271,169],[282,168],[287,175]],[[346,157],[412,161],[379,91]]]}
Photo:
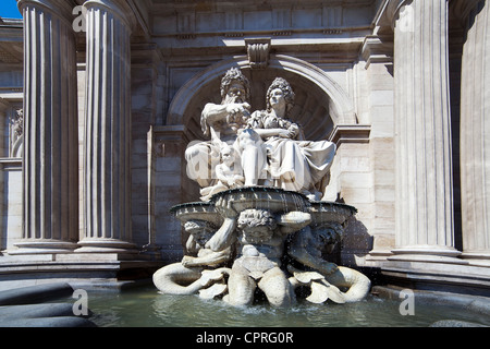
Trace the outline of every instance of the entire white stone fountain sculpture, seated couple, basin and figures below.
{"label": "entire white stone fountain sculpture, seated couple, basin and figures below", "polygon": [[267,110],[250,115],[249,84],[238,69],[221,82],[220,105],[207,104],[203,132],[211,140],[187,147],[187,174],[201,201],[171,208],[188,234],[179,263],[154,274],[162,293],[221,298],[252,304],[261,291],[275,306],[296,297],[336,303],[364,299],[369,279],[323,258],[340,243],[356,208],[321,201],[335,145],[303,139],[287,119],[290,84],[278,77]]}

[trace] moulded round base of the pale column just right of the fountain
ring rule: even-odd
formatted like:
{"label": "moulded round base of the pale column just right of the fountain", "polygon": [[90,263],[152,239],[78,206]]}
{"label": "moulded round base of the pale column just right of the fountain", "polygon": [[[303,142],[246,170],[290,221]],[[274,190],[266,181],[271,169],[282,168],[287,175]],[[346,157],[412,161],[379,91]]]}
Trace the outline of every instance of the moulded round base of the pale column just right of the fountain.
{"label": "moulded round base of the pale column just right of the fountain", "polygon": [[450,246],[404,246],[391,252],[393,252],[393,255],[387,257],[388,261],[467,264],[458,258],[461,252]]}

